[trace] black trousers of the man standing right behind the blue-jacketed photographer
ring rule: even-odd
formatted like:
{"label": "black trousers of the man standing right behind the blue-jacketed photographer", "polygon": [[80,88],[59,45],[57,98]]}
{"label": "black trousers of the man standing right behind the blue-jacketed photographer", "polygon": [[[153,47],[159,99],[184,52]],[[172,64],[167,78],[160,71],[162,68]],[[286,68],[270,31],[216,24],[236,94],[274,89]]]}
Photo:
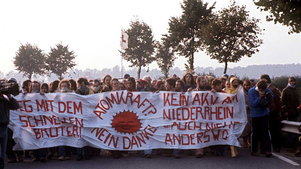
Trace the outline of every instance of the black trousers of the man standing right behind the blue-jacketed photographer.
{"label": "black trousers of the man standing right behind the blue-jacketed photographer", "polygon": [[271,134],[272,146],[275,149],[281,149],[281,131],[279,112],[277,110],[268,113],[269,130]]}

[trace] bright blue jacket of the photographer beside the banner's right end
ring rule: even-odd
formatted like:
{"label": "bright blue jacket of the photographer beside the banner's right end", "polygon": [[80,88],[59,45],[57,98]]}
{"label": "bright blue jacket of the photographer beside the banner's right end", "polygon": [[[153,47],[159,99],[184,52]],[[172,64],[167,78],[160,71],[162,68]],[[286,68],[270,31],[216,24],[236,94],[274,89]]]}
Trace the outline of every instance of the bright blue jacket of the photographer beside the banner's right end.
{"label": "bright blue jacket of the photographer beside the banner's right end", "polygon": [[[256,86],[251,88],[248,92],[248,100],[250,103],[250,109],[251,109],[251,117],[262,117],[264,115],[267,115],[269,112],[268,107],[263,107],[260,104],[261,99],[259,99],[259,92],[255,90]],[[271,92],[272,91],[269,88],[266,88],[264,92]]]}

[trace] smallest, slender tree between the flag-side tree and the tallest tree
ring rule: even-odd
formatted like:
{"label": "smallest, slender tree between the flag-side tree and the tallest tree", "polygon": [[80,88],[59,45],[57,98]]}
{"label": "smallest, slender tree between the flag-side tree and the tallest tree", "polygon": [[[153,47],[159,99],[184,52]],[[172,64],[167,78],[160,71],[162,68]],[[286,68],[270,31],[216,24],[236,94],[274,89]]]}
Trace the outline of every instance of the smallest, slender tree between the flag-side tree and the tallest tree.
{"label": "smallest, slender tree between the flag-side tree and the tallest tree", "polygon": [[161,40],[162,42],[157,43],[156,61],[166,79],[169,75],[169,69],[174,65],[176,57],[170,46],[169,39],[162,38]]}

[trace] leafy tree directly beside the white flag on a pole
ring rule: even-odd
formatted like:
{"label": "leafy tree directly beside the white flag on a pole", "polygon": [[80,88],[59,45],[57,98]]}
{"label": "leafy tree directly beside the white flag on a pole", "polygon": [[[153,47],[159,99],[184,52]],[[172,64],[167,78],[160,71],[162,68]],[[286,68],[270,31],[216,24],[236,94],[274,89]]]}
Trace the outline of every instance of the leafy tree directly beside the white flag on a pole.
{"label": "leafy tree directly beside the white flag on a pole", "polygon": [[128,47],[123,53],[123,59],[131,62],[129,67],[137,67],[138,78],[140,78],[141,67],[151,64],[155,57],[155,50],[151,27],[145,22],[135,18],[130,22],[130,28],[125,31],[129,35]]}

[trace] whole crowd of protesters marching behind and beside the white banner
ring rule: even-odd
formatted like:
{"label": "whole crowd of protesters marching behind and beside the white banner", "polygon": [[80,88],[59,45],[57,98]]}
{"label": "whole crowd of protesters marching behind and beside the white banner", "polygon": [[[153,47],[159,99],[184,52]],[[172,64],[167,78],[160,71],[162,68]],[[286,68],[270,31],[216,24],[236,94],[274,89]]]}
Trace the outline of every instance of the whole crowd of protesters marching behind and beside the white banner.
{"label": "whole crowd of protesters marching behind and beside the white banner", "polygon": [[[17,83],[14,78],[8,79],[2,83]],[[228,94],[235,94],[238,88],[242,86],[244,91],[246,112],[248,123],[244,128],[241,137],[243,139],[243,148],[250,148],[251,155],[259,156],[259,154],[265,154],[266,157],[272,156],[272,148],[275,152],[280,152],[282,144],[280,139],[281,119],[288,119],[289,121],[299,122],[300,103],[299,95],[296,91],[295,84],[296,79],[290,77],[287,87],[282,91],[271,84],[269,75],[261,75],[260,80],[256,83],[255,80],[241,81],[233,75],[225,74],[220,78],[214,78],[213,76],[194,76],[191,73],[183,75],[182,79],[177,75],[173,75],[170,78],[164,80],[153,80],[150,76],[144,76],[142,79],[136,80],[130,75],[124,75],[123,79],[112,78],[110,75],[105,75],[104,78],[90,79],[78,78],[76,81],[73,79],[63,79],[61,81],[52,81],[49,85],[41,83],[39,81],[23,81],[20,93],[26,95],[27,93],[76,93],[80,95],[97,94],[108,91],[120,91],[127,90],[130,92],[191,92],[191,91],[208,91],[212,93],[222,92]],[[8,98],[1,94],[0,106],[1,109],[7,105],[7,102],[15,101],[12,96]],[[6,107],[8,109],[8,106]],[[9,107],[9,109],[16,109],[16,105]],[[9,111],[8,109],[8,111]],[[6,112],[7,113],[7,112]],[[0,129],[7,128],[9,123],[5,113],[1,112]],[[5,131],[4,131],[5,132]],[[70,146],[58,146],[49,147],[35,150],[25,151],[13,151],[15,145],[12,139],[13,131],[8,128],[7,131],[7,144],[3,144],[4,140],[1,140],[1,155],[2,165],[4,165],[3,150],[6,149],[8,156],[8,163],[17,161],[23,161],[23,158],[32,158],[29,152],[33,152],[33,161],[45,162],[45,159],[51,159],[57,157],[59,160],[67,160],[71,158],[71,154],[77,155],[77,160],[90,159],[92,156],[99,156],[101,149],[96,149],[90,146],[83,148],[75,148]],[[1,133],[2,134],[2,133]],[[292,141],[296,139],[293,134],[288,135],[288,140]],[[260,144],[261,152],[258,153],[258,147]],[[301,146],[301,145],[300,145]],[[223,156],[223,153],[227,149],[225,145],[210,146],[208,148],[201,148],[195,150],[188,150],[189,154],[194,154],[197,158],[203,157],[206,152],[216,154],[217,156]],[[236,146],[229,146],[231,150],[231,156],[237,157],[238,151]],[[157,155],[166,153],[167,156],[174,156],[174,158],[180,158],[180,149],[155,149]],[[25,153],[25,155],[24,155]],[[128,151],[110,150],[108,154],[113,158],[120,158],[122,156],[128,156]],[[139,151],[142,157],[151,158],[152,149]],[[301,155],[301,149],[295,154]]]}

